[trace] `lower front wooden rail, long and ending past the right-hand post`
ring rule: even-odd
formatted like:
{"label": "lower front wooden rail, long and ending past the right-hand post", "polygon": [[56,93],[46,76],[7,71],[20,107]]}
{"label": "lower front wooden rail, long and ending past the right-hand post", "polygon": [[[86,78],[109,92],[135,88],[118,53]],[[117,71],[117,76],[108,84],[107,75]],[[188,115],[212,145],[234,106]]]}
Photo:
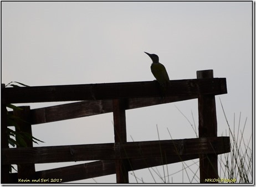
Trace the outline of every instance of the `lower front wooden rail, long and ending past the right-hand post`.
{"label": "lower front wooden rail, long and ending past the right-hand post", "polygon": [[78,146],[2,148],[2,164],[76,162],[130,158],[166,157],[191,154],[222,154],[230,151],[229,137],[191,138],[168,141],[114,143]]}

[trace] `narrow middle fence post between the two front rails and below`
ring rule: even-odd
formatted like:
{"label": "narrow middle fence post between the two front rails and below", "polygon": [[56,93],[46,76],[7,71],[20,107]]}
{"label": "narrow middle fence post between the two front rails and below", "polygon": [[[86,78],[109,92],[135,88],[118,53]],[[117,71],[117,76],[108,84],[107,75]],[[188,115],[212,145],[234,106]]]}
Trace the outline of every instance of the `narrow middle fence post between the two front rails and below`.
{"label": "narrow middle fence post between the two front rails and below", "polygon": [[[114,133],[116,154],[120,153],[120,144],[127,142],[125,100],[113,100]],[[116,159],[116,183],[129,183],[127,159]]]}

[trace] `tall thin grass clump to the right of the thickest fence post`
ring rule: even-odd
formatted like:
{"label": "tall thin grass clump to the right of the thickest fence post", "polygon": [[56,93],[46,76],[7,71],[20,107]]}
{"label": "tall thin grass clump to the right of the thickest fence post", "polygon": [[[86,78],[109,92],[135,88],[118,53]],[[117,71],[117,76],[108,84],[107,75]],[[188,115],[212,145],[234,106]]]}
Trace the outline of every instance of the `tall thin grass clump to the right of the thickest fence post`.
{"label": "tall thin grass clump to the right of the thickest fence post", "polygon": [[[221,102],[221,100],[220,100]],[[228,136],[231,138],[231,152],[224,154],[224,158],[219,159],[221,170],[219,175],[223,176],[223,179],[235,179],[235,183],[253,183],[253,154],[251,148],[252,134],[248,141],[244,140],[244,129],[247,122],[247,118],[240,129],[241,112],[239,115],[238,131],[235,132],[235,114],[233,122],[233,132],[227,120],[226,113],[224,111],[222,102],[222,110],[224,117],[228,125]],[[227,136],[227,134],[226,134]]]}

